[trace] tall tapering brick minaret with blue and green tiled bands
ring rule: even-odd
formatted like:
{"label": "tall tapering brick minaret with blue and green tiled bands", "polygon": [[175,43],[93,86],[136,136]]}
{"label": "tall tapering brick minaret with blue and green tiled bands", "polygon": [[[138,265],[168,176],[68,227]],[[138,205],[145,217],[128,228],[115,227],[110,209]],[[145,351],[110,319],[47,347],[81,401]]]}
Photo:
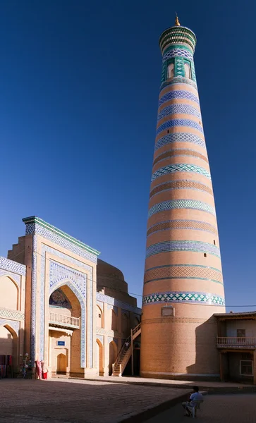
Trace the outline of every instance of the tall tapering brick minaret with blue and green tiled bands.
{"label": "tall tapering brick minaret with blue and green tiled bands", "polygon": [[147,221],[140,374],[219,377],[214,313],[225,312],[217,218],[193,54],[195,34],[165,30]]}

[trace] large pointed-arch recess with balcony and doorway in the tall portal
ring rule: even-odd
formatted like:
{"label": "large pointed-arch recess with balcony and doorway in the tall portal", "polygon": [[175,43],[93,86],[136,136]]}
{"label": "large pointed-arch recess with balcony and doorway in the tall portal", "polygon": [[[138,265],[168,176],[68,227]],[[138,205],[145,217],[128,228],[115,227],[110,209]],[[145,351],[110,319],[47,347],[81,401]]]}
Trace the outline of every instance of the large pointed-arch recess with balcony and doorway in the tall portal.
{"label": "large pointed-arch recess with balcony and doorway in the tall portal", "polygon": [[52,376],[80,371],[81,305],[71,283],[49,296],[49,367]]}

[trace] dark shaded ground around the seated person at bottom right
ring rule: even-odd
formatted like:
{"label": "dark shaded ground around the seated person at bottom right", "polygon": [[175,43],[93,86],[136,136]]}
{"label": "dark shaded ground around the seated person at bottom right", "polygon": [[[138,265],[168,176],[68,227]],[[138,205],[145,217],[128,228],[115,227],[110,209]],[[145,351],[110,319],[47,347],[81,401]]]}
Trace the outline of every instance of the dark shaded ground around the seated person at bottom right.
{"label": "dark shaded ground around the seated person at bottom right", "polygon": [[184,417],[181,405],[175,405],[147,423],[255,423],[256,422],[256,394],[241,393],[231,395],[207,395],[201,410],[194,420]]}

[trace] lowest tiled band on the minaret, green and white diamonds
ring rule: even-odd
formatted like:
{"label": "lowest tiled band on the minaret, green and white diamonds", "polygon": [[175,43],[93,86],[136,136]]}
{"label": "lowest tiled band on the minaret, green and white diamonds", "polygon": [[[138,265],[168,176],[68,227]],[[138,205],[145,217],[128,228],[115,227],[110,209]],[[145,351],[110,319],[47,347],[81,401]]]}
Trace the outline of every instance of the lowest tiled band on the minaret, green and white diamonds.
{"label": "lowest tiled band on the minaret, green and white diamonds", "polygon": [[189,302],[191,304],[225,305],[224,298],[210,293],[172,291],[145,295],[142,300],[143,305],[157,304],[159,302]]}

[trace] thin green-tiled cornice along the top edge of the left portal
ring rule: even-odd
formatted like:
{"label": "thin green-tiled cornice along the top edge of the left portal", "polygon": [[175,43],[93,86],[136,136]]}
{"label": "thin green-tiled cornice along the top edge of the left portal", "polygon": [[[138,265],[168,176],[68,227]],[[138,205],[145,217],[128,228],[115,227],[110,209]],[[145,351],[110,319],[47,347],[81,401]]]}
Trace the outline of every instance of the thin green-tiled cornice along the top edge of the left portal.
{"label": "thin green-tiled cornice along the top edge of the left portal", "polygon": [[[26,235],[34,235],[37,234],[41,235],[41,233],[37,232],[37,225],[42,226],[43,228],[47,229],[48,231],[51,231],[52,233],[55,233],[56,235],[61,236],[61,238],[64,238],[66,240],[68,240],[70,243],[73,243],[74,245],[83,248],[83,250],[86,250],[87,252],[90,252],[93,255],[98,256],[100,254],[99,251],[95,250],[92,247],[89,247],[89,245],[86,245],[85,243],[82,243],[82,241],[79,241],[75,238],[73,238],[73,236],[68,235],[68,233],[61,231],[60,229],[56,228],[55,226],[50,225],[49,223],[43,221],[42,219],[40,219],[37,216],[30,216],[30,217],[25,217],[23,219],[23,222],[26,225]],[[31,225],[34,224],[34,231],[33,233],[30,231],[30,233],[27,233],[27,225]],[[31,228],[31,226],[30,226]]]}

